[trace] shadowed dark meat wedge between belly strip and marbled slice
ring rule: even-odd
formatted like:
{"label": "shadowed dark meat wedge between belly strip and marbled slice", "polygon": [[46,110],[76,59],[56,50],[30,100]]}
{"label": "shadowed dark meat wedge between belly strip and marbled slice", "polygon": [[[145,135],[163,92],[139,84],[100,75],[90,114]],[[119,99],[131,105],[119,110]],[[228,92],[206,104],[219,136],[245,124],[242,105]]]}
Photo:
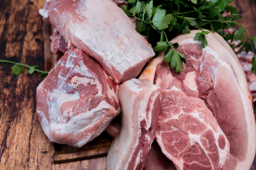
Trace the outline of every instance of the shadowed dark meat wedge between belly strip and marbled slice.
{"label": "shadowed dark meat wedge between belly strip and marbled slice", "polygon": [[144,165],[145,170],[176,170],[172,161],[161,151],[158,143],[154,141],[151,145],[150,153]]}

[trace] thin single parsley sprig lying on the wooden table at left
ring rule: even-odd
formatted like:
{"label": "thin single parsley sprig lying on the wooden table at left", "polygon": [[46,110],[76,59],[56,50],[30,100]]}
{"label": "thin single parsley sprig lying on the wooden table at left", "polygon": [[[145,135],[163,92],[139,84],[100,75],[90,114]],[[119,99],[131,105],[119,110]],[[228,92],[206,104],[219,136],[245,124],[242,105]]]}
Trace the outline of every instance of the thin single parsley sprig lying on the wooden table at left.
{"label": "thin single parsley sprig lying on the wooden table at left", "polygon": [[27,64],[22,64],[22,63],[19,63],[19,62],[14,62],[14,61],[9,61],[9,60],[0,60],[0,62],[7,62],[7,63],[14,64],[11,67],[13,75],[23,74],[25,72],[23,67],[29,68],[28,69],[28,74],[33,74],[35,71],[39,72],[40,73],[39,74],[40,78],[43,78],[43,77],[47,76],[47,74],[49,73],[49,72],[44,72],[42,70],[39,70],[38,65],[30,66],[30,65],[27,65]]}

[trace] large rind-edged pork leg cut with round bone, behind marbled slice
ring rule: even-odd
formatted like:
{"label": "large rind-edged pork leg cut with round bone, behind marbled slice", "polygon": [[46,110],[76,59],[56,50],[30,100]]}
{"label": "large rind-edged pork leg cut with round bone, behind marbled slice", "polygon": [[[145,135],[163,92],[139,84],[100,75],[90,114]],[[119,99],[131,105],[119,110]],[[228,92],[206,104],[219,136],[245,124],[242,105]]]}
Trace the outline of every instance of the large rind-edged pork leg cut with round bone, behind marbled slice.
{"label": "large rind-edged pork leg cut with round bone, behind marbled slice", "polygon": [[[161,53],[143,70],[140,78],[150,79],[162,90],[175,86],[176,91],[184,92],[188,98],[202,98],[230,143],[229,160],[224,169],[249,169],[255,157],[256,127],[252,96],[243,68],[220,35],[212,32],[206,35],[208,45],[202,49],[200,41],[193,40],[197,32],[200,31],[194,30],[171,40],[179,43],[177,50],[186,57],[182,74],[170,69]],[[162,151],[170,153],[163,147]]]}

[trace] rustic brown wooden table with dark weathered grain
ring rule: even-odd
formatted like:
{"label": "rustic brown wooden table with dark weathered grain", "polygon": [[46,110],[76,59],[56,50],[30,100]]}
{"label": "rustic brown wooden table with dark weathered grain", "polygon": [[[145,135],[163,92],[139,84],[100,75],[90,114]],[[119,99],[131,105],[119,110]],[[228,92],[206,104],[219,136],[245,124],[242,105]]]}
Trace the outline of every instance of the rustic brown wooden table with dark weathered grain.
{"label": "rustic brown wooden table with dark weathered grain", "polygon": [[[44,0],[0,0],[0,59],[39,65],[44,69]],[[256,1],[235,0],[240,21],[256,33]],[[13,76],[11,64],[0,63],[0,169],[106,169],[106,157],[53,164],[49,140],[36,114],[36,86],[42,81],[27,73]]]}

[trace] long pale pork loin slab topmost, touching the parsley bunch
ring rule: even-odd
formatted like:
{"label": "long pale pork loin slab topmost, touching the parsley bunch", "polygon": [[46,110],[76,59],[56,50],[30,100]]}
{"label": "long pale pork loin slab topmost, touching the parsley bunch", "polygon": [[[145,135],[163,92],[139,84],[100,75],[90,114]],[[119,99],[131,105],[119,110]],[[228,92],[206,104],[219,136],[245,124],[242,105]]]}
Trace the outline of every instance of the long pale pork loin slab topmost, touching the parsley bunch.
{"label": "long pale pork loin slab topmost, touching the parsley bunch", "polygon": [[47,0],[39,13],[69,45],[95,58],[117,84],[138,76],[155,55],[112,0]]}

